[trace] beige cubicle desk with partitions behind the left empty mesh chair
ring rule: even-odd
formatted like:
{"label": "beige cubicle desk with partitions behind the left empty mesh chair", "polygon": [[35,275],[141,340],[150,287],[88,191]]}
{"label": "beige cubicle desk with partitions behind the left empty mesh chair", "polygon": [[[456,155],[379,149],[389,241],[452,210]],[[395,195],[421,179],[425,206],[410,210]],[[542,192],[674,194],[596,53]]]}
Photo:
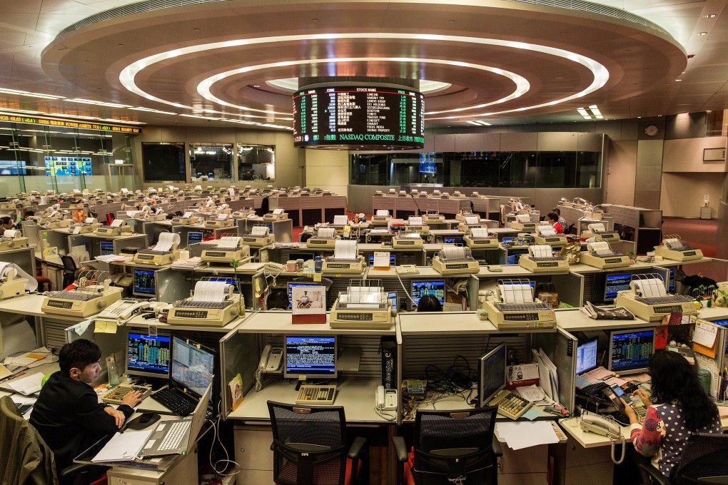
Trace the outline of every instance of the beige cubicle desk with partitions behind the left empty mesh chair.
{"label": "beige cubicle desk with partitions behind the left empty mesh chair", "polygon": [[[234,411],[230,408],[228,396],[223,395],[221,413],[226,420],[235,422],[235,461],[242,468],[238,479],[251,484],[272,481],[270,444],[273,438],[266,403],[271,400],[293,404],[297,393],[294,384],[284,380],[280,374],[268,375],[263,380],[262,390],[256,392],[253,389],[253,372],[264,345],[280,347],[285,335],[336,336],[339,388],[333,404],[344,406],[350,425],[370,428],[366,432],[381,436],[378,441],[386,443],[387,451],[383,453],[387,454],[385,460],[391,468],[394,454],[388,450],[388,437],[395,433],[395,422],[376,414],[373,404],[376,386],[381,384],[381,337],[396,338],[396,334],[394,324],[388,330],[331,329],[328,324],[292,324],[291,313],[281,311],[255,313],[226,334],[220,342],[222,381],[230,382],[240,374],[245,391],[244,400]],[[226,386],[223,386],[223,393],[226,392]],[[355,436],[356,431],[350,430],[349,434]],[[376,469],[374,460],[371,467],[373,475],[393,476]]]}

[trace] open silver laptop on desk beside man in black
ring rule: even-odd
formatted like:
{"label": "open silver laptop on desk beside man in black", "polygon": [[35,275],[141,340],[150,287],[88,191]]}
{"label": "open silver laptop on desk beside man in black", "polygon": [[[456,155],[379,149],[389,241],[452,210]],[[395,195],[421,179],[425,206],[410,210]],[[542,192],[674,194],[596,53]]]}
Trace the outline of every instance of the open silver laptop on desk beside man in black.
{"label": "open silver laptop on desk beside man in black", "polygon": [[207,414],[207,402],[213,385],[207,386],[197,402],[191,417],[176,420],[160,420],[151,436],[142,446],[139,457],[161,457],[165,454],[187,454],[202,429]]}

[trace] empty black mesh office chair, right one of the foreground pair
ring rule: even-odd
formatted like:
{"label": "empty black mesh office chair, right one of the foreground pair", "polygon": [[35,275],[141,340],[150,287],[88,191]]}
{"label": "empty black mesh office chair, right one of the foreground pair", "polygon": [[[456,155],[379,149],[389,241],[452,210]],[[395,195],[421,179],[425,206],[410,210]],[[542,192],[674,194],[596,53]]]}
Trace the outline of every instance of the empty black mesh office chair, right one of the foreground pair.
{"label": "empty black mesh office chair, right one of the foreground pair", "polygon": [[408,453],[401,436],[392,438],[407,485],[494,485],[497,457],[494,436],[497,406],[460,411],[418,411],[414,446]]}

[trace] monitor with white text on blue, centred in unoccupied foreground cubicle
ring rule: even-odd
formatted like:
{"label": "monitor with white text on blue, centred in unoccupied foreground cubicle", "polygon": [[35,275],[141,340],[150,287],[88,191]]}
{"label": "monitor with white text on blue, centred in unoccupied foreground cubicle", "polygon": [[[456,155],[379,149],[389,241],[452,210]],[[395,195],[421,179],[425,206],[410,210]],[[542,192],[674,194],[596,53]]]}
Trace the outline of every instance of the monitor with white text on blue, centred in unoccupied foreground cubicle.
{"label": "monitor with white text on blue, centred in unoccupied foreground cubicle", "polygon": [[336,377],[336,337],[286,335],[284,337],[287,379],[333,379]]}

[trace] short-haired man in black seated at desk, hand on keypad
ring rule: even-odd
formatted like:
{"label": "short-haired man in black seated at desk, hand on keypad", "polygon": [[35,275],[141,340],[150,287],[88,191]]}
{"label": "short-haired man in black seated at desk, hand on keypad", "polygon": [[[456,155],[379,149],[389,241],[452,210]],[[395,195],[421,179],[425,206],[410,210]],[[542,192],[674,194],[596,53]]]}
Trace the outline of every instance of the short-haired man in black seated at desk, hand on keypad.
{"label": "short-haired man in black seated at desk, hand on keypad", "polygon": [[75,457],[103,436],[116,433],[134,414],[132,406],[141,402],[138,391],[124,396],[117,409],[98,402],[90,384],[101,370],[100,358],[101,349],[90,340],[63,345],[58,354],[60,371],[48,378],[33,406],[31,425],[52,450],[56,470],[72,465]]}

